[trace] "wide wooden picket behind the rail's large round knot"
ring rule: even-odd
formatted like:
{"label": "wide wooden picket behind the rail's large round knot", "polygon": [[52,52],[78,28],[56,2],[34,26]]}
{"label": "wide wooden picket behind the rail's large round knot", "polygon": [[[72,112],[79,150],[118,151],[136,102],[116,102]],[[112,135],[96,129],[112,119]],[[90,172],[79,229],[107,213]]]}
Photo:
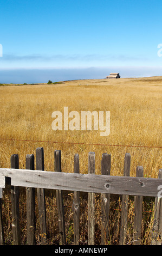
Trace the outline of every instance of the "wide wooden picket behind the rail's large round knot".
{"label": "wide wooden picket behind the rail's large round knot", "polygon": [[[110,175],[111,173],[111,155],[102,154],[101,174]],[[108,245],[109,237],[109,203],[110,194],[101,193],[101,245]]]}

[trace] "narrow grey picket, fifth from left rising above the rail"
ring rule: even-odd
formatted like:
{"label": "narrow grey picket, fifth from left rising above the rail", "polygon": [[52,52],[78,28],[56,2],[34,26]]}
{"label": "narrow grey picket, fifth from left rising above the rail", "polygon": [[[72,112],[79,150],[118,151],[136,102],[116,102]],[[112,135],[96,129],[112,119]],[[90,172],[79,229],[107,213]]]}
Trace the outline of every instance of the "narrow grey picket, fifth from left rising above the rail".
{"label": "narrow grey picket, fifth from left rising above the rail", "polygon": [[[74,173],[79,173],[79,155],[74,156]],[[74,214],[74,245],[79,245],[79,223],[80,223],[80,193],[74,191],[73,214]]]}

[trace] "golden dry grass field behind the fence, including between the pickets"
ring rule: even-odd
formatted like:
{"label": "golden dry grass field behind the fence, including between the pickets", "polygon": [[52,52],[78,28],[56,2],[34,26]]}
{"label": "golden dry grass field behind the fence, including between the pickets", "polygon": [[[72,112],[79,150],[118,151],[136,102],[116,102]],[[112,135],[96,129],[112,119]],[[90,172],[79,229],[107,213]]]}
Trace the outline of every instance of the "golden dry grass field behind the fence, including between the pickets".
{"label": "golden dry grass field behind the fence, including between the pickets", "polygon": [[[55,141],[94,144],[142,145],[161,147],[161,86],[162,77],[150,78],[120,78],[118,80],[82,80],[67,81],[65,84],[39,84],[35,86],[0,86],[0,137],[27,139],[33,141]],[[51,129],[51,113],[61,111],[68,106],[69,111],[110,111],[111,133],[107,137],[100,137],[99,131],[53,131]],[[87,173],[88,152],[95,151],[96,174],[100,174],[102,153],[112,155],[112,175],[123,175],[125,153],[131,154],[131,176],[135,176],[138,165],[144,167],[144,175],[151,178],[158,177],[161,168],[160,148],[110,147],[82,144],[56,144],[41,142],[21,142],[0,140],[0,167],[10,167],[10,156],[18,154],[20,168],[25,167],[25,156],[35,154],[37,147],[44,148],[44,164],[46,170],[54,170],[54,150],[61,149],[62,171],[73,172],[74,155],[80,155],[80,172]],[[52,199],[51,199],[52,200]],[[54,199],[53,199],[54,200]],[[68,199],[70,200],[70,199]],[[70,200],[71,202],[71,200]],[[119,202],[120,203],[120,202]],[[53,202],[53,204],[55,204]],[[86,244],[87,233],[82,223],[86,220],[86,202],[83,201],[81,210],[81,241]],[[129,202],[129,234],[128,244],[131,243],[133,223],[133,203]],[[66,203],[68,206],[69,203]],[[98,205],[98,204],[96,204]],[[120,204],[119,204],[120,205]],[[151,204],[152,205],[152,204]],[[147,202],[145,204],[148,210]],[[98,207],[98,206],[96,206]],[[119,207],[119,206],[118,206]],[[151,206],[152,207],[152,206]],[[7,211],[8,209],[8,211]],[[68,208],[67,208],[68,209]],[[111,211],[111,230],[114,236],[110,237],[110,244],[118,244],[120,210],[114,205]],[[10,226],[9,205],[5,206],[5,228],[8,233],[8,243],[11,240],[8,227]],[[56,210],[49,215],[55,216]],[[22,210],[21,216],[25,210]],[[54,214],[54,215],[53,215]],[[66,211],[67,231],[73,223],[72,210]],[[96,229],[100,230],[100,216],[96,212]],[[9,218],[7,218],[7,216]],[[24,214],[25,216],[25,214]],[[24,217],[22,217],[23,219]],[[148,219],[146,221],[146,218]],[[142,224],[144,233],[143,244],[150,239],[151,215]],[[49,220],[51,218],[48,218]],[[148,222],[148,223],[147,223]],[[53,224],[53,228],[50,228]],[[56,223],[48,223],[49,244],[57,243]],[[116,229],[117,227],[117,229]],[[22,230],[25,232],[25,226]],[[117,231],[115,231],[117,230]],[[72,234],[69,233],[70,236]],[[100,231],[96,233],[96,243],[100,243]],[[24,236],[25,237],[25,236]],[[37,236],[37,242],[39,237]],[[25,243],[25,238],[24,238]]]}

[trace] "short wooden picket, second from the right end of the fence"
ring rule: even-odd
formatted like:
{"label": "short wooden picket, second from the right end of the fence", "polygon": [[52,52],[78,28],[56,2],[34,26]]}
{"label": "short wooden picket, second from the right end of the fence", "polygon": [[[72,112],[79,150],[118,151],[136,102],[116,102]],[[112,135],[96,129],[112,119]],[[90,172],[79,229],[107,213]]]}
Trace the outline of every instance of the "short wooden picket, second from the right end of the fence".
{"label": "short wooden picket, second from the right end of the fence", "polygon": [[[142,166],[137,166],[136,170],[137,177],[144,176],[144,168]],[[141,186],[143,184],[141,183]],[[133,245],[141,244],[141,224],[142,224],[142,196],[134,197],[134,237],[133,237]]]}

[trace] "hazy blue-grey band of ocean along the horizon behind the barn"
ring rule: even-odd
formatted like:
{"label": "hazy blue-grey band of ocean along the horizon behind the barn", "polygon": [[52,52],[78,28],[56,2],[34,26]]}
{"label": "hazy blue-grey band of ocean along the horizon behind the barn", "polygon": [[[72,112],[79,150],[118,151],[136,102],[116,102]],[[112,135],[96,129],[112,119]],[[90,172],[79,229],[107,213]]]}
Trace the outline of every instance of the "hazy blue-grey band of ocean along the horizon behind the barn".
{"label": "hazy blue-grey band of ocean along the horizon behind the barn", "polygon": [[103,67],[103,68],[54,68],[54,69],[0,69],[0,83],[47,83],[104,79],[110,72],[118,72],[122,77],[161,76],[161,67]]}

